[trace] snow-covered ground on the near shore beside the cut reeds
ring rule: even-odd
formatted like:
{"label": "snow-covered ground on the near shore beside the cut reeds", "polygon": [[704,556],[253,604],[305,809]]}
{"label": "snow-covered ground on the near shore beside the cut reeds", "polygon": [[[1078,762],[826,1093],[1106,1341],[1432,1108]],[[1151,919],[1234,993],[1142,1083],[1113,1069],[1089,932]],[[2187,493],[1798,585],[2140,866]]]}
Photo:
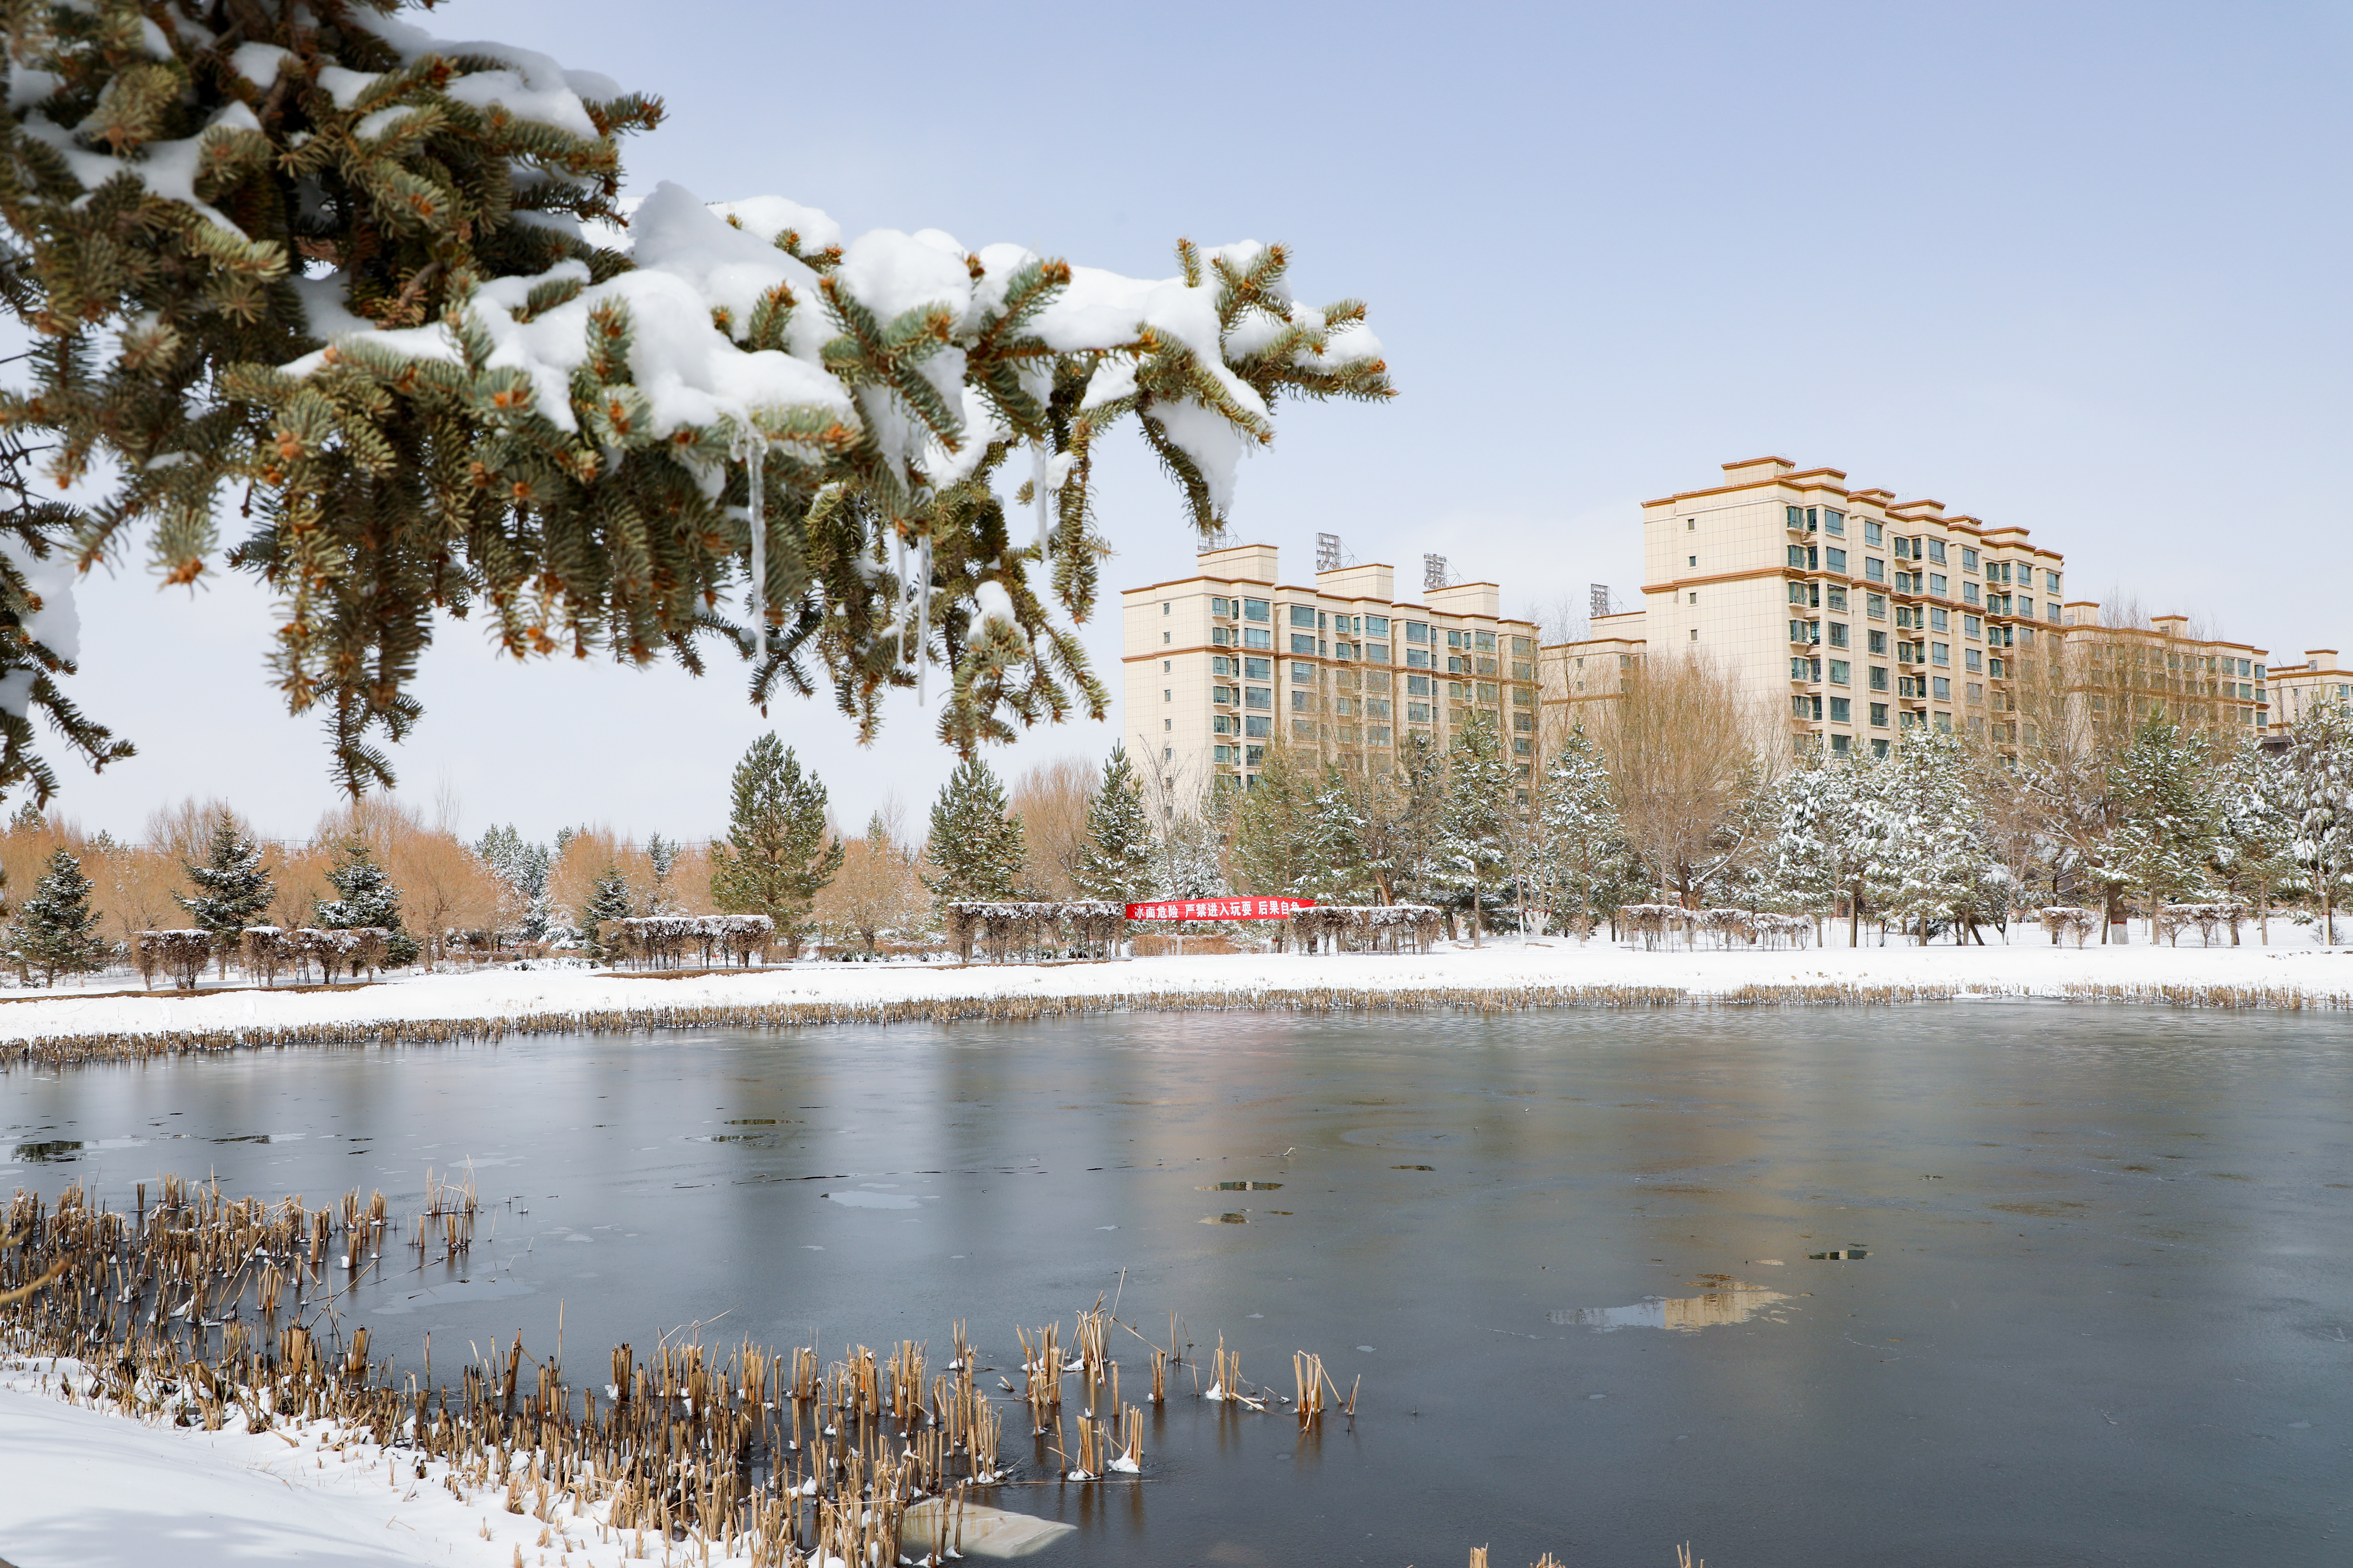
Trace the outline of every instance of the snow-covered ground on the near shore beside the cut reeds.
{"label": "snow-covered ground on the near shore beside the cut reeds", "polygon": [[626,1537],[598,1528],[602,1507],[541,1523],[508,1514],[504,1490],[461,1502],[445,1465],[419,1479],[409,1455],[322,1422],[148,1425],[66,1403],[61,1373],[80,1368],[0,1359],[0,1554],[14,1568],[560,1568],[626,1554]]}

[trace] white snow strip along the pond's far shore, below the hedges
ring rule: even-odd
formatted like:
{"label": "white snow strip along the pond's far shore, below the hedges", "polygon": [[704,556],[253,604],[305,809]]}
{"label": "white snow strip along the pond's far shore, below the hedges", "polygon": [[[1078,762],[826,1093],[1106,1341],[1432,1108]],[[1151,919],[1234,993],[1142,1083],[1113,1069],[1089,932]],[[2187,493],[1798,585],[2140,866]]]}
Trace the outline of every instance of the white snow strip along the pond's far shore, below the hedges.
{"label": "white snow strip along the pond's far shore, below the hedges", "polygon": [[[1809,947],[1718,952],[1619,947],[1609,943],[1494,940],[1480,950],[1442,945],[1428,954],[1231,954],[1153,957],[1108,964],[812,964],[711,973],[678,980],[614,971],[496,969],[419,976],[344,992],[238,990],[193,997],[113,994],[0,1004],[0,1039],[87,1034],[315,1030],[426,1020],[499,1020],[654,1009],[814,1006],[856,1011],[882,1004],[955,1006],[988,999],[1198,997],[1205,1006],[1252,1006],[1282,992],[1522,992],[1529,987],[1668,987],[1692,1001],[1744,987],[1941,987],[1988,997],[2068,997],[2073,987],[2240,987],[2353,1004],[2353,950],[2297,945],[2242,947]],[[2294,933],[2294,936],[2301,936]]]}

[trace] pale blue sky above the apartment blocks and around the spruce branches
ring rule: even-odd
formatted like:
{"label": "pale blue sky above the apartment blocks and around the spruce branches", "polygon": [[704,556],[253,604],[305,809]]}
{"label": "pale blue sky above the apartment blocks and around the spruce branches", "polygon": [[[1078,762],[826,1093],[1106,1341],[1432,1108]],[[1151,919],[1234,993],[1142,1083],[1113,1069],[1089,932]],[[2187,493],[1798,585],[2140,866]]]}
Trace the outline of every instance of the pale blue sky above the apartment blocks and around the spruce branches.
{"label": "pale blue sky above the apartment blocks and around the spruce branches", "polygon": [[[1402,388],[1292,409],[1235,534],[1424,550],[1522,614],[1640,578],[1635,503],[1767,451],[1937,496],[2224,635],[2353,654],[2341,5],[1287,7],[452,0],[426,24],[659,92],[633,188],[779,193],[864,228],[1016,240],[1127,273],[1176,235],[1285,240],[1358,294]],[[1174,496],[1111,465],[1106,585],[1191,569]],[[1287,574],[1289,576],[1289,574]],[[261,675],[259,595],[139,571],[85,597],[85,703],[141,757],[66,809],[184,792],[273,832],[329,804]],[[1092,644],[1118,691],[1115,599]],[[181,670],[202,668],[191,682]],[[402,748],[468,832],[711,832],[767,724],[734,672],[501,668],[445,632]],[[859,750],[772,724],[845,818],[946,776],[896,703]],[[1066,726],[998,755],[1108,750]]]}

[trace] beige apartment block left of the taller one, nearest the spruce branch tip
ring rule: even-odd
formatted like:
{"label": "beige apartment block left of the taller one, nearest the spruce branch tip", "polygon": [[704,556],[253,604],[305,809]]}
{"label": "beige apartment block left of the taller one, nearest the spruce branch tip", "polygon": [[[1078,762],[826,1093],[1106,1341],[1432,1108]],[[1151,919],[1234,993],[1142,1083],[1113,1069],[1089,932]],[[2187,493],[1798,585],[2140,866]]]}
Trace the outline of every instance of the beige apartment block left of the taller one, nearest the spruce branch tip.
{"label": "beige apartment block left of the taller one, nearest the spruce branch tip", "polygon": [[1198,574],[1120,595],[1125,715],[1165,790],[1249,788],[1271,745],[1386,766],[1485,710],[1522,776],[1537,755],[1537,628],[1494,583],[1400,599],[1384,564],[1282,583],[1275,545],[1202,550]]}

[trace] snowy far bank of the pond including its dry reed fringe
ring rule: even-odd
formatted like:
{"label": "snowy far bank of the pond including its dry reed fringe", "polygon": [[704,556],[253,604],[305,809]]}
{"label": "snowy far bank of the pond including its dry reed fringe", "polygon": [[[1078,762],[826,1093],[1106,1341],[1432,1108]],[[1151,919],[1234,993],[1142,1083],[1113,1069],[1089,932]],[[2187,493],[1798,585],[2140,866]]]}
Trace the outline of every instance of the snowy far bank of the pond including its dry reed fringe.
{"label": "snowy far bank of the pond including its dry reed fringe", "polygon": [[[1581,992],[1581,994],[1565,994]],[[1626,992],[1626,994],[1612,994]],[[661,980],[612,971],[424,976],[348,992],[59,997],[0,1006],[0,1041],[238,1041],[431,1037],[431,1025],[800,1025],[1024,1016],[1115,1006],[1438,1006],[1593,1001],[1842,1001],[1857,992],[2151,997],[2353,1006],[2353,952],[2322,947],[1821,947],[1715,952],[1515,943],[1431,954],[1233,954],[1108,964],[840,964]],[[2174,992],[2165,997],[2160,992]],[[2200,997],[2200,992],[2205,997]],[[416,1030],[412,1034],[412,1030]]]}

